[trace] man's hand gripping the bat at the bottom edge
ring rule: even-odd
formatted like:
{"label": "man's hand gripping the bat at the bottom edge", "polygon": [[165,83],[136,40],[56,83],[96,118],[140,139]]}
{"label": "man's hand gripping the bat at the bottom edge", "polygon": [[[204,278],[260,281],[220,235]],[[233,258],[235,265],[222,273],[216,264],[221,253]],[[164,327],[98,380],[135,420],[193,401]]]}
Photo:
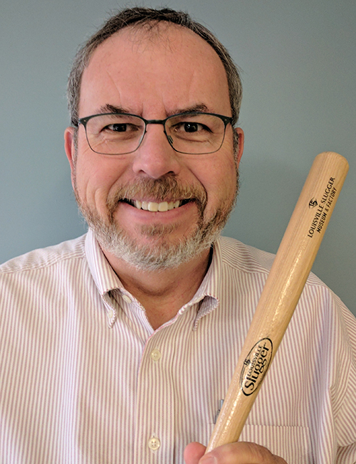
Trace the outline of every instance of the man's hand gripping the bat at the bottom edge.
{"label": "man's hand gripping the bat at the bottom edge", "polygon": [[[287,464],[283,458],[256,443],[239,441],[205,453],[201,443],[189,443],[184,450],[186,464]],[[204,457],[203,457],[204,456]]]}

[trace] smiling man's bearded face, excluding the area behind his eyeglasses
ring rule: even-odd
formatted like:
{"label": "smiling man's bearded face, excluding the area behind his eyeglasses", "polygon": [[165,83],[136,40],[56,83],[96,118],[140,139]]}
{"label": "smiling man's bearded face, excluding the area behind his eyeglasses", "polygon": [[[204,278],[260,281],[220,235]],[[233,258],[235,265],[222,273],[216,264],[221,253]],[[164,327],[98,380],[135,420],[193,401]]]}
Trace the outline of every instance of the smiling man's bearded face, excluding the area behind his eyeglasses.
{"label": "smiling man's bearded face, excluding the area behind his eyeglasses", "polygon": [[[193,108],[231,115],[216,52],[192,31],[162,24],[151,32],[125,28],[93,53],[83,73],[79,115],[112,107],[147,120]],[[175,152],[162,125],[148,125],[137,151],[105,155],[90,149],[82,125],[75,150],[68,128],[75,195],[103,250],[140,268],[172,267],[206,250],[234,206],[243,133],[238,130],[234,155],[233,130],[226,127],[218,152],[197,155]],[[144,201],[168,211],[137,208]]]}

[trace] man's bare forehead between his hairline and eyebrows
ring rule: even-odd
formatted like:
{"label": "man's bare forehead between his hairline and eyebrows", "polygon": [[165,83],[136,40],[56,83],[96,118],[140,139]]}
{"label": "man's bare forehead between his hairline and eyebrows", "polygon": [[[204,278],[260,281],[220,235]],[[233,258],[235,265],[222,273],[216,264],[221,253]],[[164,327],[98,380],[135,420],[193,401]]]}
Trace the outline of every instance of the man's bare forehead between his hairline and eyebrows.
{"label": "man's bare forehead between his hairline and eyebrows", "polygon": [[107,104],[140,115],[162,104],[168,115],[198,103],[229,115],[226,72],[214,48],[183,26],[123,28],[98,46],[83,73],[82,117]]}

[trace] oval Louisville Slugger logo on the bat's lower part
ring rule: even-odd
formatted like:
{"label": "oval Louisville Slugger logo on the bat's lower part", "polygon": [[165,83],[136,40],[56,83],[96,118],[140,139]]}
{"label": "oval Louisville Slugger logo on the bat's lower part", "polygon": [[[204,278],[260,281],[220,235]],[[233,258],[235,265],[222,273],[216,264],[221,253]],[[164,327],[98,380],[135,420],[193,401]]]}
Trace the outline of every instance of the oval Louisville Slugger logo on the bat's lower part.
{"label": "oval Louisville Slugger logo on the bat's lower part", "polygon": [[240,376],[240,386],[244,395],[249,396],[258,389],[271,363],[272,352],[272,340],[263,338],[248,353]]}

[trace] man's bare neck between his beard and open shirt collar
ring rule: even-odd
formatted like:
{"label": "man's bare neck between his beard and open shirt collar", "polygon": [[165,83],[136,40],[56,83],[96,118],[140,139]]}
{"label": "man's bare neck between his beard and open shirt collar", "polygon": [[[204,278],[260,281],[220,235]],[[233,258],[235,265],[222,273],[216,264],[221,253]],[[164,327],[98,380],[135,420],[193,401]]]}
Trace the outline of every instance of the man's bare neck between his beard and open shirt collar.
{"label": "man's bare neck between his beard and open shirt collar", "polygon": [[139,270],[104,251],[122,285],[143,307],[153,329],[174,317],[197,292],[209,268],[210,251],[206,250],[188,263],[165,270]]}

